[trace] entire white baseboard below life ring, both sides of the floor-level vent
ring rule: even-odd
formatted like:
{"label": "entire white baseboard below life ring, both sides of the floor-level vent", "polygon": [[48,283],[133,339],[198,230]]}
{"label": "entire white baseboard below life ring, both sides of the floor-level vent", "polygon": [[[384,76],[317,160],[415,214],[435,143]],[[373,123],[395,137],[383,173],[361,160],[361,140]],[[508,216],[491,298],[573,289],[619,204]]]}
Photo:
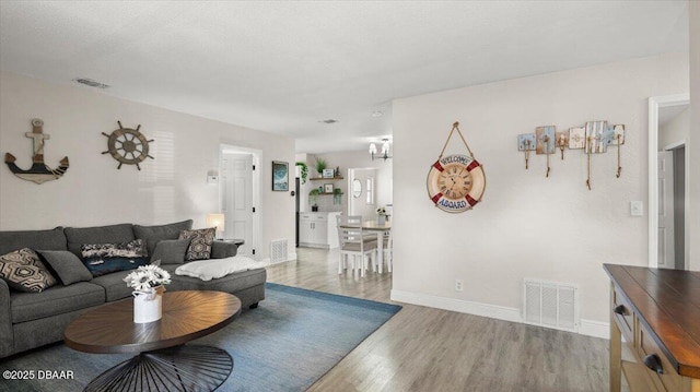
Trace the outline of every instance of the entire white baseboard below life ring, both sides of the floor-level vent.
{"label": "entire white baseboard below life ring, both sides of the floor-level vent", "polygon": [[[467,300],[431,296],[425,294],[392,290],[392,300],[397,302],[427,306],[431,308],[456,311],[475,316],[488,317],[491,319],[523,322],[521,309],[509,308],[498,305],[472,302]],[[581,319],[579,333],[582,335],[609,338],[610,324],[603,321]]]}

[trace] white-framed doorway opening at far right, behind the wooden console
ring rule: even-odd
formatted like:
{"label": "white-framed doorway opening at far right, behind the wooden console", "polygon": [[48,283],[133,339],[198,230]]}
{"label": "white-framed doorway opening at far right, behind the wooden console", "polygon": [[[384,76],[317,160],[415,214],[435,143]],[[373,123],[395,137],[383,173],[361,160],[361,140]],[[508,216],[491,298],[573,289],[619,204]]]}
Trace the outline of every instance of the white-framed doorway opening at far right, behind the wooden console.
{"label": "white-framed doorway opening at far right, behind the wooden console", "polygon": [[[649,266],[688,269],[688,159],[682,133],[665,124],[689,106],[688,94],[649,98]],[[686,130],[687,132],[687,130]],[[673,133],[669,135],[669,133]],[[670,139],[669,139],[670,138]],[[664,146],[663,149],[660,149]]]}

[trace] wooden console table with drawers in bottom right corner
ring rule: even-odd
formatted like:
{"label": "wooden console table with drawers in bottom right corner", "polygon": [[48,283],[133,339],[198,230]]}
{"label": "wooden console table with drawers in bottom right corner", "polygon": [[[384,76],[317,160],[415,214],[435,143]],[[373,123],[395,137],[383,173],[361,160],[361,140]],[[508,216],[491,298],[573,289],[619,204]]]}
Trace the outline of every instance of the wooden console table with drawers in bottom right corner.
{"label": "wooden console table with drawers in bottom right corner", "polygon": [[604,269],[611,280],[610,392],[620,391],[621,375],[633,392],[700,392],[700,272]]}

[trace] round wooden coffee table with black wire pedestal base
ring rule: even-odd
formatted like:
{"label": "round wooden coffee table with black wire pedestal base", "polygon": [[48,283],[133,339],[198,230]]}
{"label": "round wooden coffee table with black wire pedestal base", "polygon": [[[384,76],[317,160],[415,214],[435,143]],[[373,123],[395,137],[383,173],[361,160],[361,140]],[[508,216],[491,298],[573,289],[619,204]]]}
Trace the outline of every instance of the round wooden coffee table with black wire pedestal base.
{"label": "round wooden coffee table with black wire pedestal base", "polygon": [[184,345],[230,324],[241,300],[221,292],[167,292],[161,320],[133,323],[131,298],[85,312],[68,325],[66,345],[95,354],[139,353],[95,378],[85,391],[213,391],[231,375],[223,349]]}

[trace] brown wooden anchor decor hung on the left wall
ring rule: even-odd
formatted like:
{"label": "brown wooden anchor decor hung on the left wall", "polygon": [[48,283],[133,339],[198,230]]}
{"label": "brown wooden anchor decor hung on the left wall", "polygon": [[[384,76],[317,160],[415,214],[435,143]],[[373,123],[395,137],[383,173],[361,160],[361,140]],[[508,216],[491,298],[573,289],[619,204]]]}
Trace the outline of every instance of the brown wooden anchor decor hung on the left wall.
{"label": "brown wooden anchor decor hung on the left wall", "polygon": [[33,181],[36,183],[44,183],[61,178],[66,170],[68,170],[68,156],[65,156],[60,161],[60,165],[57,169],[51,169],[44,164],[44,144],[47,139],[50,139],[49,134],[44,133],[44,121],[38,118],[32,120],[32,132],[26,132],[25,135],[32,139],[34,143],[34,157],[32,167],[27,170],[23,170],[14,163],[16,158],[10,153],[5,153],[4,163],[8,164],[10,171],[23,180]]}

